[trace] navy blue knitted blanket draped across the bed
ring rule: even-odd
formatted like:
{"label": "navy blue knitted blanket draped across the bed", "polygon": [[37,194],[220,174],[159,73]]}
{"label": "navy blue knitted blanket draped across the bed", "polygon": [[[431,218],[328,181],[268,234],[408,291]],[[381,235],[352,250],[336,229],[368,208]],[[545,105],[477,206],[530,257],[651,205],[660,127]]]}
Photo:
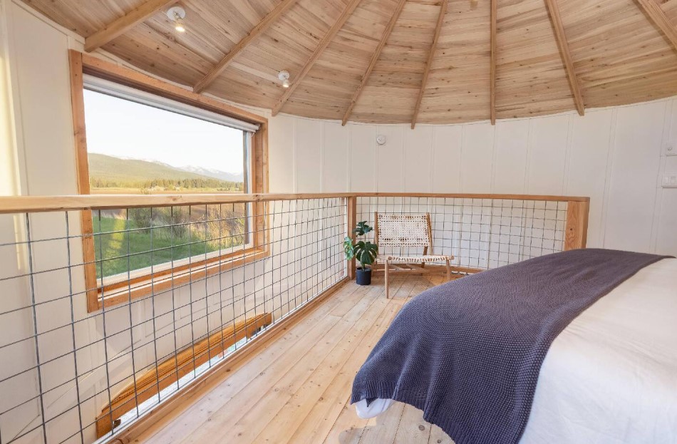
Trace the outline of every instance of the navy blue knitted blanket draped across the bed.
{"label": "navy blue knitted blanket draped across the bed", "polygon": [[552,341],[597,299],[660,259],[579,249],[429,289],[403,306],[371,351],[351,402],[411,404],[456,444],[515,444]]}

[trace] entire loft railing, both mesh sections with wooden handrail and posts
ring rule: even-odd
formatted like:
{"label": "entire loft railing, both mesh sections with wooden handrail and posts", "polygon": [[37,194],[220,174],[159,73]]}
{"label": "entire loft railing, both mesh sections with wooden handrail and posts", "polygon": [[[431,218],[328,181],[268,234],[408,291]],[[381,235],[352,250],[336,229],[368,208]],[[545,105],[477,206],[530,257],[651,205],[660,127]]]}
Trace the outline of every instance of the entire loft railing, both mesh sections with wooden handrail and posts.
{"label": "entire loft railing, both mesh sections with wooden handrail and posts", "polygon": [[343,239],[374,212],[430,213],[435,254],[487,269],[584,247],[586,205],[376,193],[0,197],[0,444],[85,444],[125,430],[343,282]]}

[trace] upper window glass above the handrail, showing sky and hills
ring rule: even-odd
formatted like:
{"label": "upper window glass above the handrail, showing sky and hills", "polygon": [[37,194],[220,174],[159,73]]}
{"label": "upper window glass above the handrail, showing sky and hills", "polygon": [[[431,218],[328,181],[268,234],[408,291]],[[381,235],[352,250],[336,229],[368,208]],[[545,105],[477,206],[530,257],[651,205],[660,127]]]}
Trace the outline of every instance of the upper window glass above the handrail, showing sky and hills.
{"label": "upper window glass above the handrail, showing sky and hills", "polygon": [[244,192],[244,131],[85,90],[91,192]]}

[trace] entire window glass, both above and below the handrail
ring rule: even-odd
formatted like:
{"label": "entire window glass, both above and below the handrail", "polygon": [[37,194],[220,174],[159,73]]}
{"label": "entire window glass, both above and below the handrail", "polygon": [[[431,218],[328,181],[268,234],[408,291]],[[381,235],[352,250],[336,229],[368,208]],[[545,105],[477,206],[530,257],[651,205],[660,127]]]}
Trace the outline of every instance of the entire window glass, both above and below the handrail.
{"label": "entire window glass, both above and below the handrail", "polygon": [[[92,193],[246,192],[242,130],[85,91]],[[247,244],[247,206],[101,210],[98,278],[212,259]],[[150,272],[150,270],[148,270]]]}

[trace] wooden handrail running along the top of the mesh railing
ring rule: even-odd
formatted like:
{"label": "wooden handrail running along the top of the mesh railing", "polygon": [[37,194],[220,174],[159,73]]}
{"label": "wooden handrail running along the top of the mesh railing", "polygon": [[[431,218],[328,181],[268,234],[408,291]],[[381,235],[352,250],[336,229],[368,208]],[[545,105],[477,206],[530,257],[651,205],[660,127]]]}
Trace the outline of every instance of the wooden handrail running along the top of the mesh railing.
{"label": "wooden handrail running along the top of the mesh railing", "polygon": [[338,192],[296,194],[183,194],[183,195],[63,195],[63,196],[3,196],[0,215],[13,213],[112,210],[118,208],[170,207],[177,205],[218,205],[242,202],[272,202],[275,200],[324,199],[331,197],[447,197],[464,199],[545,200],[552,202],[589,202],[589,197],[552,195],[501,195],[472,193],[398,193],[398,192]]}

